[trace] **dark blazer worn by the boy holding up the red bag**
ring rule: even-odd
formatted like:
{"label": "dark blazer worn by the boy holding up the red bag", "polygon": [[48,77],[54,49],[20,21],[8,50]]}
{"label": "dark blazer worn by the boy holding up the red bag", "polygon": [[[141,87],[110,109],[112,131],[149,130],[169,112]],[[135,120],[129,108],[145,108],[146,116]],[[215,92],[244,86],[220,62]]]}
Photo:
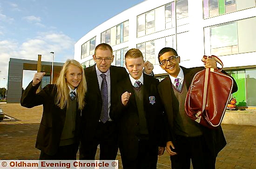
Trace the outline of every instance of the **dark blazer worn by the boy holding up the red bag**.
{"label": "dark blazer worn by the boy holding up the red bag", "polygon": [[[195,73],[198,71],[202,71],[204,67],[195,67],[195,68],[185,68],[180,66],[184,73],[184,83],[187,85],[187,89],[189,90],[189,86]],[[225,71],[223,73],[227,74]],[[236,81],[233,79],[234,85],[232,89],[232,93],[237,91]],[[159,95],[162,99],[162,103],[164,104],[166,115],[168,117],[168,124],[169,124],[169,132],[168,132],[168,141],[172,141],[174,136],[174,118],[175,113],[173,112],[173,107],[175,106],[172,104],[172,96],[174,96],[174,91],[172,88],[172,82],[169,77],[163,79],[158,86]],[[206,144],[211,150],[213,156],[217,156],[217,154],[222,150],[226,145],[226,140],[222,131],[221,126],[219,126],[216,130],[211,130],[207,127],[201,125],[201,129],[203,132],[203,136],[205,138]]]}

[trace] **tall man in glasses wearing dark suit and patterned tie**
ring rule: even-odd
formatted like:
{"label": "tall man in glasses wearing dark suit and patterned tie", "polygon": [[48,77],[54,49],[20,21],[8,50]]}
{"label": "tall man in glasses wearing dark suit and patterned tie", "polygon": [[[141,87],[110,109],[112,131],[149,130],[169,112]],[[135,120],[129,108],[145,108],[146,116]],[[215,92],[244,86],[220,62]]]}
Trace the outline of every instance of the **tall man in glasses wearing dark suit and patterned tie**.
{"label": "tall man in glasses wearing dark suit and patterned tie", "polygon": [[[95,47],[95,65],[85,69],[87,81],[86,106],[82,112],[80,159],[94,160],[100,144],[100,160],[115,160],[117,145],[116,123],[109,117],[115,101],[116,84],[128,77],[124,67],[114,66],[112,47],[101,43]],[[148,62],[147,73],[153,66]]]}

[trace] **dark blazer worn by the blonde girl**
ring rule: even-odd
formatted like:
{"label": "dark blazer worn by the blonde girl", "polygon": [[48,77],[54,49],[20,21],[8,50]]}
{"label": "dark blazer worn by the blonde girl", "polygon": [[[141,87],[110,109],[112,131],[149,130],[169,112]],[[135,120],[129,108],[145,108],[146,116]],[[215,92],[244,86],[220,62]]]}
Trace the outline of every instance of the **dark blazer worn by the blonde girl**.
{"label": "dark blazer worn by the blonde girl", "polygon": [[[66,108],[61,110],[55,104],[55,96],[57,94],[56,85],[47,84],[42,91],[36,93],[39,85],[40,83],[32,86],[32,82],[30,82],[21,96],[20,104],[27,108],[43,104],[43,115],[35,147],[47,155],[53,156],[56,154],[60,144],[61,133],[66,118]],[[77,143],[79,143],[81,111],[78,110],[78,104],[76,110],[75,137],[77,138]]]}

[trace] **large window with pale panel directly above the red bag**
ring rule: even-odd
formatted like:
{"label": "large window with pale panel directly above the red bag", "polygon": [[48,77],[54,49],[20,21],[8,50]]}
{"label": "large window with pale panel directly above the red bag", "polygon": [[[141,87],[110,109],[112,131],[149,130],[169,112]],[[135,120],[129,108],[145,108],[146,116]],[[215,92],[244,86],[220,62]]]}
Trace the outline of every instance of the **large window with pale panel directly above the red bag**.
{"label": "large window with pale panel directly above the red bag", "polygon": [[255,29],[256,17],[205,27],[205,54],[221,56],[254,52],[256,51]]}

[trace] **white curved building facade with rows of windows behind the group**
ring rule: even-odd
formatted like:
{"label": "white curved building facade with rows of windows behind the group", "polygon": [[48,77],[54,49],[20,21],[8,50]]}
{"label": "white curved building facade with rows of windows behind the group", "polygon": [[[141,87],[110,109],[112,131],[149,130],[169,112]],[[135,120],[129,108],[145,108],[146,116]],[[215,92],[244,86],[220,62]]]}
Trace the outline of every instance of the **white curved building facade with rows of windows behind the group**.
{"label": "white curved building facade with rows of windows behind the group", "polygon": [[203,55],[216,55],[238,84],[238,106],[256,106],[256,0],[145,0],[84,35],[74,45],[74,59],[94,65],[96,45],[108,43],[124,66],[124,55],[138,48],[154,64],[160,80],[166,72],[157,55],[176,49],[185,67],[202,66]]}

